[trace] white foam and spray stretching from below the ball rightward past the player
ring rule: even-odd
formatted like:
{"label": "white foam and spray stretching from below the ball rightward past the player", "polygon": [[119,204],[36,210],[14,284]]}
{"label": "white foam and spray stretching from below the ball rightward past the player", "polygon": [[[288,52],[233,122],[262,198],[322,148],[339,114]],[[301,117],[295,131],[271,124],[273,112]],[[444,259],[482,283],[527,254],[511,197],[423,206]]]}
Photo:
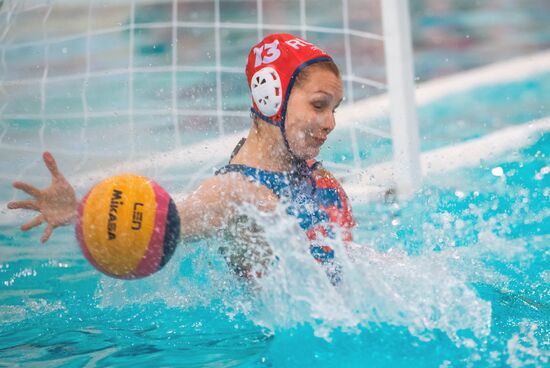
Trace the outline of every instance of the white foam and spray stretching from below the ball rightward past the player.
{"label": "white foam and spray stretching from below the ball rightward past the player", "polygon": [[[475,346],[466,335],[483,339],[490,334],[491,303],[470,285],[475,272],[465,272],[462,266],[468,262],[461,263],[464,257],[456,252],[410,256],[397,249],[379,252],[370,245],[333,242],[343,279],[334,286],[310,254],[297,220],[282,206],[272,214],[245,212],[265,229],[276,255],[267,271],[259,268],[263,275],[252,286],[223,265],[218,254],[222,243],[200,243],[202,249],[177,252],[165,270],[146,279],[103,278],[98,305],[126,308],[161,301],[188,310],[222,300],[230,316],[244,314],[275,333],[310,325],[327,340],[337,330],[356,333],[380,324],[404,327],[422,340],[443,331],[461,346]],[[186,260],[193,265],[190,274],[180,270]]]}

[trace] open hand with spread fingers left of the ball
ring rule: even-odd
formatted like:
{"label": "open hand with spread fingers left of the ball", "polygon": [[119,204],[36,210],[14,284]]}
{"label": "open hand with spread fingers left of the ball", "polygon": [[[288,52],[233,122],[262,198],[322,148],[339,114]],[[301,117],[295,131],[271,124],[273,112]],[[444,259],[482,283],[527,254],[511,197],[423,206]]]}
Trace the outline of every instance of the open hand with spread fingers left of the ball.
{"label": "open hand with spread fingers left of the ball", "polygon": [[44,152],[42,157],[44,158],[46,167],[52,174],[51,185],[40,190],[27,183],[14,182],[13,186],[15,188],[24,191],[34,197],[34,199],[10,202],[8,203],[8,208],[24,208],[37,211],[38,215],[22,225],[21,230],[27,231],[46,222],[46,229],[40,238],[40,241],[44,243],[49,239],[53,229],[62,225],[68,225],[76,220],[78,201],[73,187],[59,172],[52,154]]}

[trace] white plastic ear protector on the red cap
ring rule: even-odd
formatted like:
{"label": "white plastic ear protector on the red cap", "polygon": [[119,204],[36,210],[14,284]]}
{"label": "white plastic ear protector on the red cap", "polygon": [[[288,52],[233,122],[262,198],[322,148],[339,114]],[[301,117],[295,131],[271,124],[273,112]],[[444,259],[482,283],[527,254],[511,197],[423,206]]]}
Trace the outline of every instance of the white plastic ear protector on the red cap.
{"label": "white plastic ear protector on the red cap", "polygon": [[258,70],[250,80],[250,91],[256,106],[267,117],[279,112],[283,101],[281,78],[271,67]]}

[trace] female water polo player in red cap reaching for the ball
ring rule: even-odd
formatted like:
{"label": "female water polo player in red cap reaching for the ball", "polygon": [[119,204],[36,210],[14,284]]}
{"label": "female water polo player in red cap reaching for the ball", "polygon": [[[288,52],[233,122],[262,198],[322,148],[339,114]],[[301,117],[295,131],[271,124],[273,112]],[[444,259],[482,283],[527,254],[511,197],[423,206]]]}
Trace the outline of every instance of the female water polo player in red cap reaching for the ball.
{"label": "female water polo player in red cap reaching for the ball", "polygon": [[[269,212],[283,203],[306,232],[315,260],[336,280],[329,239],[351,240],[354,220],[342,187],[315,157],[335,127],[334,111],[342,100],[338,68],[315,45],[290,34],[274,34],[251,49],[246,76],[253,117],[248,137],[239,142],[228,165],[177,204],[183,240],[231,233],[241,244],[236,249],[248,243],[245,251],[229,250],[231,264],[239,274],[250,275],[257,271],[253,258],[260,254],[260,259],[269,259],[270,252],[263,242],[250,241],[257,229],[243,221],[240,209],[251,204]],[[43,242],[54,228],[75,221],[78,205],[52,155],[45,153],[44,161],[53,177],[51,186],[39,190],[16,182],[14,187],[34,199],[8,204],[11,209],[39,212],[21,228],[46,222]]]}

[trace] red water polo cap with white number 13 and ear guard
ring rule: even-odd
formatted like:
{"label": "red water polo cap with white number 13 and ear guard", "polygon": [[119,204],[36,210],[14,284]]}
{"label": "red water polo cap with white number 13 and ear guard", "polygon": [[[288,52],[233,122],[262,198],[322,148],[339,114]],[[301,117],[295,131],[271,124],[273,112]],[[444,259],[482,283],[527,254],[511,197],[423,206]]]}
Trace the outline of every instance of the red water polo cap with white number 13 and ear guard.
{"label": "red water polo cap with white number 13 and ear guard", "polygon": [[304,67],[332,60],[325,51],[287,33],[272,34],[252,47],[246,78],[252,93],[252,112],[284,129],[286,105],[296,76]]}

